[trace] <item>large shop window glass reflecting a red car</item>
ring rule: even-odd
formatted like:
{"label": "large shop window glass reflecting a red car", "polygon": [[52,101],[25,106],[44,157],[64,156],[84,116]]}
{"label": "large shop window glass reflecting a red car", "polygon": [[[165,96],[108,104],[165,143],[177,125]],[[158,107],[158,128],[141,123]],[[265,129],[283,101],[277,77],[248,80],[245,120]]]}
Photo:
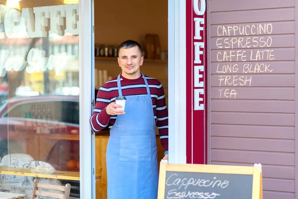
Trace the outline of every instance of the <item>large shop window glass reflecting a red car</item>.
{"label": "large shop window glass reflecting a red car", "polygon": [[7,168],[36,172],[47,184],[79,183],[75,1],[0,1],[0,192],[32,198],[35,178],[6,175]]}

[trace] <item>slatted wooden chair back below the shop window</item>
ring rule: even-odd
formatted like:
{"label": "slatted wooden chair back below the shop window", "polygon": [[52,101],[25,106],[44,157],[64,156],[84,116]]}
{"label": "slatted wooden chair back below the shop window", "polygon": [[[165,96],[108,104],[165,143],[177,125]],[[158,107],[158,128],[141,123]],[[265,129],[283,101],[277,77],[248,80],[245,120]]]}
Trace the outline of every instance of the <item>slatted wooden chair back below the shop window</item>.
{"label": "slatted wooden chair back below the shop window", "polygon": [[[47,191],[43,191],[43,190],[41,191],[39,189],[59,191],[61,193],[53,193],[53,192],[47,192]],[[64,194],[62,194],[62,192],[64,192]],[[50,197],[50,198],[54,198],[54,199],[69,199],[70,192],[71,192],[70,184],[66,184],[65,186],[48,185],[48,184],[39,183],[38,179],[35,179],[34,184],[33,184],[32,199],[37,199],[37,196]]]}

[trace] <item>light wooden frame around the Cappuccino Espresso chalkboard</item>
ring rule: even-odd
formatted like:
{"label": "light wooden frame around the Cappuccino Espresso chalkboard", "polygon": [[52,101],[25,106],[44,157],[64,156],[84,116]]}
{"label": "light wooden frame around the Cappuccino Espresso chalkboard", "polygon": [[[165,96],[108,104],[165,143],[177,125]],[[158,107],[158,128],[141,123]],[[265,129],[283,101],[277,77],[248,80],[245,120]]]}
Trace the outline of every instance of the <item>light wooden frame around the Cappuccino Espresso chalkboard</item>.
{"label": "light wooden frame around the Cappuccino Espresso chalkboard", "polygon": [[252,175],[252,199],[263,199],[262,165],[254,166],[228,166],[228,165],[198,165],[198,164],[168,164],[161,160],[159,166],[157,199],[164,199],[166,172],[192,172],[217,174]]}

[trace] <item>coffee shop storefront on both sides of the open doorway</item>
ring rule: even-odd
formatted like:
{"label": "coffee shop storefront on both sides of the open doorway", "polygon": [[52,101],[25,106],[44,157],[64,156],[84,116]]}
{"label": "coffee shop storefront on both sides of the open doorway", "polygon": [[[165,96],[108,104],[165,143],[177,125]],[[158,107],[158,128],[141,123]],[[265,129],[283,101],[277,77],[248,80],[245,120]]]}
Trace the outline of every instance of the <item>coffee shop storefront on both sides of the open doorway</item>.
{"label": "coffee shop storefront on both sides of the open doorway", "polygon": [[[9,154],[28,154],[25,168],[48,162],[56,171],[76,172],[78,197],[95,198],[95,135],[89,126],[95,79],[93,1],[23,0],[20,7],[29,9],[1,9],[1,91],[3,98],[18,96],[19,101],[6,106],[3,101],[0,109],[5,125],[0,132],[5,165],[0,166],[12,167],[3,159],[18,164],[20,157]],[[297,7],[294,0],[168,1],[170,163],[261,163],[265,199],[297,198]],[[22,94],[25,87],[33,89]],[[24,95],[29,94],[40,99],[28,101]],[[64,121],[68,116],[62,113],[70,111],[70,104],[78,117]],[[47,111],[52,106],[60,109]],[[64,141],[57,144],[57,139]],[[71,151],[56,155],[68,147]],[[71,153],[72,158],[65,157]]]}

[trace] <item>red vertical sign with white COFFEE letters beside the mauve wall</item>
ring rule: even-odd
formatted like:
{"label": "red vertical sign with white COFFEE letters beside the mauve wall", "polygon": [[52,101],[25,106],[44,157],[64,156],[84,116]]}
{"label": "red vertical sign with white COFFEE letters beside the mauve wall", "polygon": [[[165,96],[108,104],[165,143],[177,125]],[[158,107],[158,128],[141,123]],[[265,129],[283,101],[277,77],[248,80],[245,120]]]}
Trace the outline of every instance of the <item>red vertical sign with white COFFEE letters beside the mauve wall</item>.
{"label": "red vertical sign with white COFFEE letters beside the mauve wall", "polygon": [[206,0],[186,0],[186,162],[207,162]]}

